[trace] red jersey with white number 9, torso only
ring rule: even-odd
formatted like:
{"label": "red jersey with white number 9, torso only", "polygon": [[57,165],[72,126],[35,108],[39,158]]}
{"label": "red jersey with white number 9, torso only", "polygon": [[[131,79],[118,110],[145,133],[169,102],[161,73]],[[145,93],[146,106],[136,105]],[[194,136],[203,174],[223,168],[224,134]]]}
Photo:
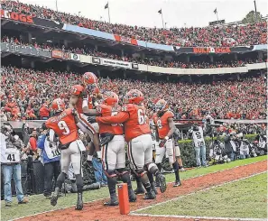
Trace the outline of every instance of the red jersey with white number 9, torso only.
{"label": "red jersey with white number 9, torso only", "polygon": [[62,111],[60,115],[51,117],[46,122],[46,126],[54,130],[62,144],[71,143],[79,139],[78,127],[70,108]]}

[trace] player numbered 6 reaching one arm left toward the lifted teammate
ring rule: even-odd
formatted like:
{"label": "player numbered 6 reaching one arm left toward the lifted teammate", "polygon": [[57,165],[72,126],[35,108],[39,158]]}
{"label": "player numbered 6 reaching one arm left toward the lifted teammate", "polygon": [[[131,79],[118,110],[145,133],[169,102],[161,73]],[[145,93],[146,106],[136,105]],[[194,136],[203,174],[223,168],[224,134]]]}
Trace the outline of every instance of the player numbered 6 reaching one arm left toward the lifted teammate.
{"label": "player numbered 6 reaching one arm left toward the lifted teammate", "polygon": [[99,124],[124,124],[127,155],[135,173],[141,177],[147,193],[144,199],[156,198],[144,167],[160,180],[160,190],[167,188],[164,176],[152,162],[152,136],[143,106],[143,93],[132,89],[125,95],[125,105],[118,115],[97,117]]}

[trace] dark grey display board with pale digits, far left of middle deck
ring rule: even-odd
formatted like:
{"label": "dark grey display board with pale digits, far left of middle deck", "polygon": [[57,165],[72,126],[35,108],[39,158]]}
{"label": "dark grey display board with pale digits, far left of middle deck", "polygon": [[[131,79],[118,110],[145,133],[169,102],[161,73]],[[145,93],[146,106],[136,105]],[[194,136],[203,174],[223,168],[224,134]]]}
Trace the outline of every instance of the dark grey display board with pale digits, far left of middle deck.
{"label": "dark grey display board with pale digits, far left of middle deck", "polygon": [[14,43],[1,42],[1,51],[51,58],[51,51],[49,50],[34,48],[32,46],[17,45]]}

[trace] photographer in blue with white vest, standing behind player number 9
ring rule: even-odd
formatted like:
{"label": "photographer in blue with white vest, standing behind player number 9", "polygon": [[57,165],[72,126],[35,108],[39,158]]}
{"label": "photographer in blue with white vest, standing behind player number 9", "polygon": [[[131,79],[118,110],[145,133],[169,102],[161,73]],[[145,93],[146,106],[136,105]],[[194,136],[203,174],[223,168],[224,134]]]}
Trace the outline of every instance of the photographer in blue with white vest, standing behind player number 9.
{"label": "photographer in blue with white vest, standing behind player number 9", "polygon": [[41,149],[41,161],[44,165],[44,191],[43,195],[51,199],[52,180],[57,180],[60,174],[59,141],[52,130],[48,130],[42,124],[42,134],[38,137],[37,146]]}

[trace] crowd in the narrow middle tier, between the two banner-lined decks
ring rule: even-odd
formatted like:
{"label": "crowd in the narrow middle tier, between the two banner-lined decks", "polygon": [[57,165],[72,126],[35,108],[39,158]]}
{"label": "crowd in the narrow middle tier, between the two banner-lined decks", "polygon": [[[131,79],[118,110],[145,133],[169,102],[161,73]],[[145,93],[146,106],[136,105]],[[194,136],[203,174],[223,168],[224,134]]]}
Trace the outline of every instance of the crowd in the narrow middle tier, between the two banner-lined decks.
{"label": "crowd in the narrow middle tier, between the two banner-lined decks", "polygon": [[215,69],[215,68],[235,68],[235,67],[245,67],[246,64],[253,64],[253,63],[261,63],[266,61],[262,59],[246,59],[246,60],[217,60],[214,62],[208,62],[208,61],[199,61],[199,62],[182,62],[178,60],[162,60],[162,59],[148,59],[148,58],[133,58],[129,55],[119,56],[115,53],[108,53],[104,51],[97,51],[95,49],[89,48],[87,46],[84,46],[84,48],[66,48],[64,45],[57,45],[53,44],[52,42],[49,43],[38,43],[33,42],[32,44],[23,42],[19,40],[16,37],[9,37],[9,36],[3,36],[1,39],[2,42],[8,42],[8,43],[14,43],[14,44],[21,44],[21,45],[31,45],[35,48],[42,48],[47,50],[60,50],[65,52],[72,52],[72,53],[78,53],[83,55],[89,55],[89,56],[96,56],[111,60],[124,60],[124,61],[130,61],[135,62],[139,64],[145,64],[145,65],[151,65],[151,66],[158,66],[158,67],[164,67],[164,68],[178,68],[178,69]]}

